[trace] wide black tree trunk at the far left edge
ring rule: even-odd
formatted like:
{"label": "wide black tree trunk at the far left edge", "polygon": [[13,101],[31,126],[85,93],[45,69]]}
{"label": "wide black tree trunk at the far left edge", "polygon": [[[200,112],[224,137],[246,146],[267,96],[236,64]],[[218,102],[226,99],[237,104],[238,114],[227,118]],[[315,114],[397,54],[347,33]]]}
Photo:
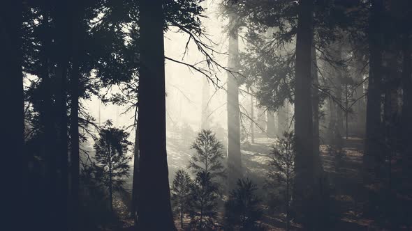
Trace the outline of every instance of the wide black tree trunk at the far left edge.
{"label": "wide black tree trunk at the far left edge", "polygon": [[[27,159],[24,156],[24,97],[22,75],[22,1],[7,0],[1,3],[0,22],[0,77],[2,106],[1,147],[3,166],[2,207],[6,212],[2,227],[25,230],[21,221],[22,209],[27,208]],[[13,173],[10,175],[10,173]],[[29,212],[31,209],[29,209]]]}

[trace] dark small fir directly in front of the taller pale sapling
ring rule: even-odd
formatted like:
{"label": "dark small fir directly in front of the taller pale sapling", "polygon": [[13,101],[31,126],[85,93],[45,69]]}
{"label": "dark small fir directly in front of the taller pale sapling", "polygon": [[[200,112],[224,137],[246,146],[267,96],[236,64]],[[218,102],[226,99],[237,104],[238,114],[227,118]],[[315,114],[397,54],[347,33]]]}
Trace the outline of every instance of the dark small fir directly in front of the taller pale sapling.
{"label": "dark small fir directly in front of the taller pale sapling", "polygon": [[191,227],[197,230],[211,230],[217,214],[217,187],[210,173],[201,170],[196,174],[191,194]]}

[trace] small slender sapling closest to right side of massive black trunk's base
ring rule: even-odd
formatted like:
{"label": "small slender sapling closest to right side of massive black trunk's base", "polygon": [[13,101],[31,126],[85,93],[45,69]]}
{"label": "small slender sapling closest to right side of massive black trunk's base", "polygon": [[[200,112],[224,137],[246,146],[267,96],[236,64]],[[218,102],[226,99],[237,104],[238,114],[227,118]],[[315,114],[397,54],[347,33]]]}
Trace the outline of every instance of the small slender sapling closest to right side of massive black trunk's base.
{"label": "small slender sapling closest to right side of massive black trunk's base", "polygon": [[175,214],[179,215],[180,228],[183,228],[183,217],[189,212],[189,201],[191,198],[191,186],[193,182],[185,170],[177,170],[172,184],[172,205]]}

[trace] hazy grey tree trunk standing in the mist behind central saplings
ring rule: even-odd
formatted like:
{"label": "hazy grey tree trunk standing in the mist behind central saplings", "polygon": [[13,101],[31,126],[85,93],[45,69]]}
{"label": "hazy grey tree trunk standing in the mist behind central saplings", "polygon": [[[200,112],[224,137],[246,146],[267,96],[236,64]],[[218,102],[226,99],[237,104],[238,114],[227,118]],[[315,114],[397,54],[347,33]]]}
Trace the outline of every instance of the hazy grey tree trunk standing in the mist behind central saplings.
{"label": "hazy grey tree trunk standing in the mist behind central saplings", "polygon": [[[228,67],[237,71],[239,67],[239,41],[235,15],[229,16],[229,24],[233,25],[229,33]],[[228,180],[229,189],[233,189],[236,180],[242,177],[240,157],[240,113],[239,113],[239,83],[233,73],[228,72]]]}

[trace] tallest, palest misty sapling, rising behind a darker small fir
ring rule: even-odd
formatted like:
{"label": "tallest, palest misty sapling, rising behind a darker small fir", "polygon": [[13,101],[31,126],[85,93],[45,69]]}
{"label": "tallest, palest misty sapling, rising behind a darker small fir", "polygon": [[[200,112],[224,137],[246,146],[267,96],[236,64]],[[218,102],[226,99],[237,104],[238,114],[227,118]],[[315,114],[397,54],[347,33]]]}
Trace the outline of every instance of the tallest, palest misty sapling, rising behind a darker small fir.
{"label": "tallest, palest misty sapling, rising behind a darker small fir", "polygon": [[226,173],[221,160],[223,159],[223,145],[217,140],[211,130],[202,130],[198,134],[192,149],[196,153],[189,160],[189,168],[193,173],[205,172],[210,175],[210,179],[215,177],[225,177]]}

